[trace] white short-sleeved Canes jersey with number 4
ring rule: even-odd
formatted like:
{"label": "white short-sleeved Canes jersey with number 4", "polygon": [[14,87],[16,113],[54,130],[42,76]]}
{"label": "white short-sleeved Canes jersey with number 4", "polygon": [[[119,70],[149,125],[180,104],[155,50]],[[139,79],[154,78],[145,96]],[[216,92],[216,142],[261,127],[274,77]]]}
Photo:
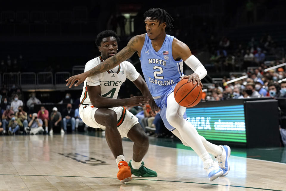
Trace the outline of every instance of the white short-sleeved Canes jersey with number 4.
{"label": "white short-sleeved Canes jersey with number 4", "polygon": [[[88,71],[93,67],[99,65],[103,62],[101,56],[96,57],[88,61],[84,67],[84,71]],[[121,62],[115,68],[108,70],[106,72],[97,74],[95,76],[87,77],[83,85],[83,93],[80,97],[80,103],[83,105],[91,104],[87,93],[87,85],[89,86],[99,86],[101,88],[101,96],[107,98],[116,99],[120,86],[128,78],[130,81],[134,81],[139,77],[139,73],[136,71],[133,64],[128,61]]]}

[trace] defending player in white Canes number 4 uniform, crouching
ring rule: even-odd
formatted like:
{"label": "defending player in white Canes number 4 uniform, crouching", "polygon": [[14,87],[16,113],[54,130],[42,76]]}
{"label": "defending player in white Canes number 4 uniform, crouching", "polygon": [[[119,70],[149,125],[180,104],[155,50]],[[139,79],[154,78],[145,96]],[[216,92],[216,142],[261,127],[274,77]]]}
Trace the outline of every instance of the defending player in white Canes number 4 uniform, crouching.
{"label": "defending player in white Canes number 4 uniform, crouching", "polygon": [[[112,30],[102,31],[97,35],[96,44],[101,55],[88,61],[85,71],[97,66],[108,57],[117,53],[119,37]],[[144,96],[116,99],[120,86],[128,78]],[[157,173],[144,167],[142,158],[149,147],[148,136],[144,133],[132,113],[124,106],[143,106],[150,102],[156,105],[142,76],[128,61],[104,73],[86,78],[80,98],[80,118],[89,127],[105,129],[105,138],[116,159],[119,171],[117,178],[121,182],[132,180],[131,174],[142,177],[156,177]],[[133,142],[133,158],[129,164],[125,161],[122,138],[128,137]]]}

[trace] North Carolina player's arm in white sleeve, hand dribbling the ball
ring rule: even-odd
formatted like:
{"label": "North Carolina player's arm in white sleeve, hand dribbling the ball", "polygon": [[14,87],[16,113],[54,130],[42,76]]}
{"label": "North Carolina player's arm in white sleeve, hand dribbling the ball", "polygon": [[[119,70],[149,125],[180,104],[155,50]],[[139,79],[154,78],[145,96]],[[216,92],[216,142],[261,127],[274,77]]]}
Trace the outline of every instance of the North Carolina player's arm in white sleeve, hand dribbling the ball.
{"label": "North Carolina player's arm in white sleeve, hand dribbling the ball", "polygon": [[206,76],[207,71],[198,58],[192,55],[189,47],[185,43],[174,38],[172,43],[172,53],[175,59],[182,58],[182,60],[194,71],[194,73],[189,76],[181,77],[181,80],[188,79],[188,82],[193,81],[193,84],[197,81],[198,86],[203,86],[200,80]]}

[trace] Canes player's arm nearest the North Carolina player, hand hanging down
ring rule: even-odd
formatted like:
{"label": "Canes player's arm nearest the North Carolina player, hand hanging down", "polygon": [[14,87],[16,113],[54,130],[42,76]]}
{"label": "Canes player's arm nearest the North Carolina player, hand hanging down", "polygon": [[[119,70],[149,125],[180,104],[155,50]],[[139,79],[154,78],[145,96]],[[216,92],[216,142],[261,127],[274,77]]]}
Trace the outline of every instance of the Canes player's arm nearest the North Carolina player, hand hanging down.
{"label": "Canes player's arm nearest the North Carolina player, hand hanging down", "polygon": [[144,79],[142,78],[141,75],[138,76],[138,78],[136,80],[133,81],[133,83],[136,85],[136,87],[138,87],[138,89],[141,91],[143,96],[148,96],[149,97],[149,104],[151,107],[151,111],[150,111],[150,115],[156,115],[155,112],[159,111],[159,107],[157,106],[157,104],[155,103],[146,82],[144,81]]}

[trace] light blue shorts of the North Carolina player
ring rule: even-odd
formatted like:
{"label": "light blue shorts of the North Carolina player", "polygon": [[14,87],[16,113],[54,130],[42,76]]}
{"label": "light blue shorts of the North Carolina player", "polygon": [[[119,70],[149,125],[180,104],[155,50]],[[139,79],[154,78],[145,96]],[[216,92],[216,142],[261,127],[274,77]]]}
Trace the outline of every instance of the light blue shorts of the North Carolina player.
{"label": "light blue shorts of the North Carolina player", "polygon": [[[167,98],[168,96],[170,95],[170,93],[172,93],[175,89],[175,85],[173,85],[168,91],[167,93],[162,96],[161,98],[158,98],[158,99],[154,99],[154,101],[156,102],[157,106],[160,107],[160,116],[164,122],[164,125],[165,127],[169,130],[169,131],[173,131],[175,129],[175,127],[173,127],[172,125],[170,125],[170,123],[167,121],[167,118],[166,118],[166,113],[167,113]],[[184,113],[183,115],[184,119],[187,119],[187,114],[186,112]]]}

